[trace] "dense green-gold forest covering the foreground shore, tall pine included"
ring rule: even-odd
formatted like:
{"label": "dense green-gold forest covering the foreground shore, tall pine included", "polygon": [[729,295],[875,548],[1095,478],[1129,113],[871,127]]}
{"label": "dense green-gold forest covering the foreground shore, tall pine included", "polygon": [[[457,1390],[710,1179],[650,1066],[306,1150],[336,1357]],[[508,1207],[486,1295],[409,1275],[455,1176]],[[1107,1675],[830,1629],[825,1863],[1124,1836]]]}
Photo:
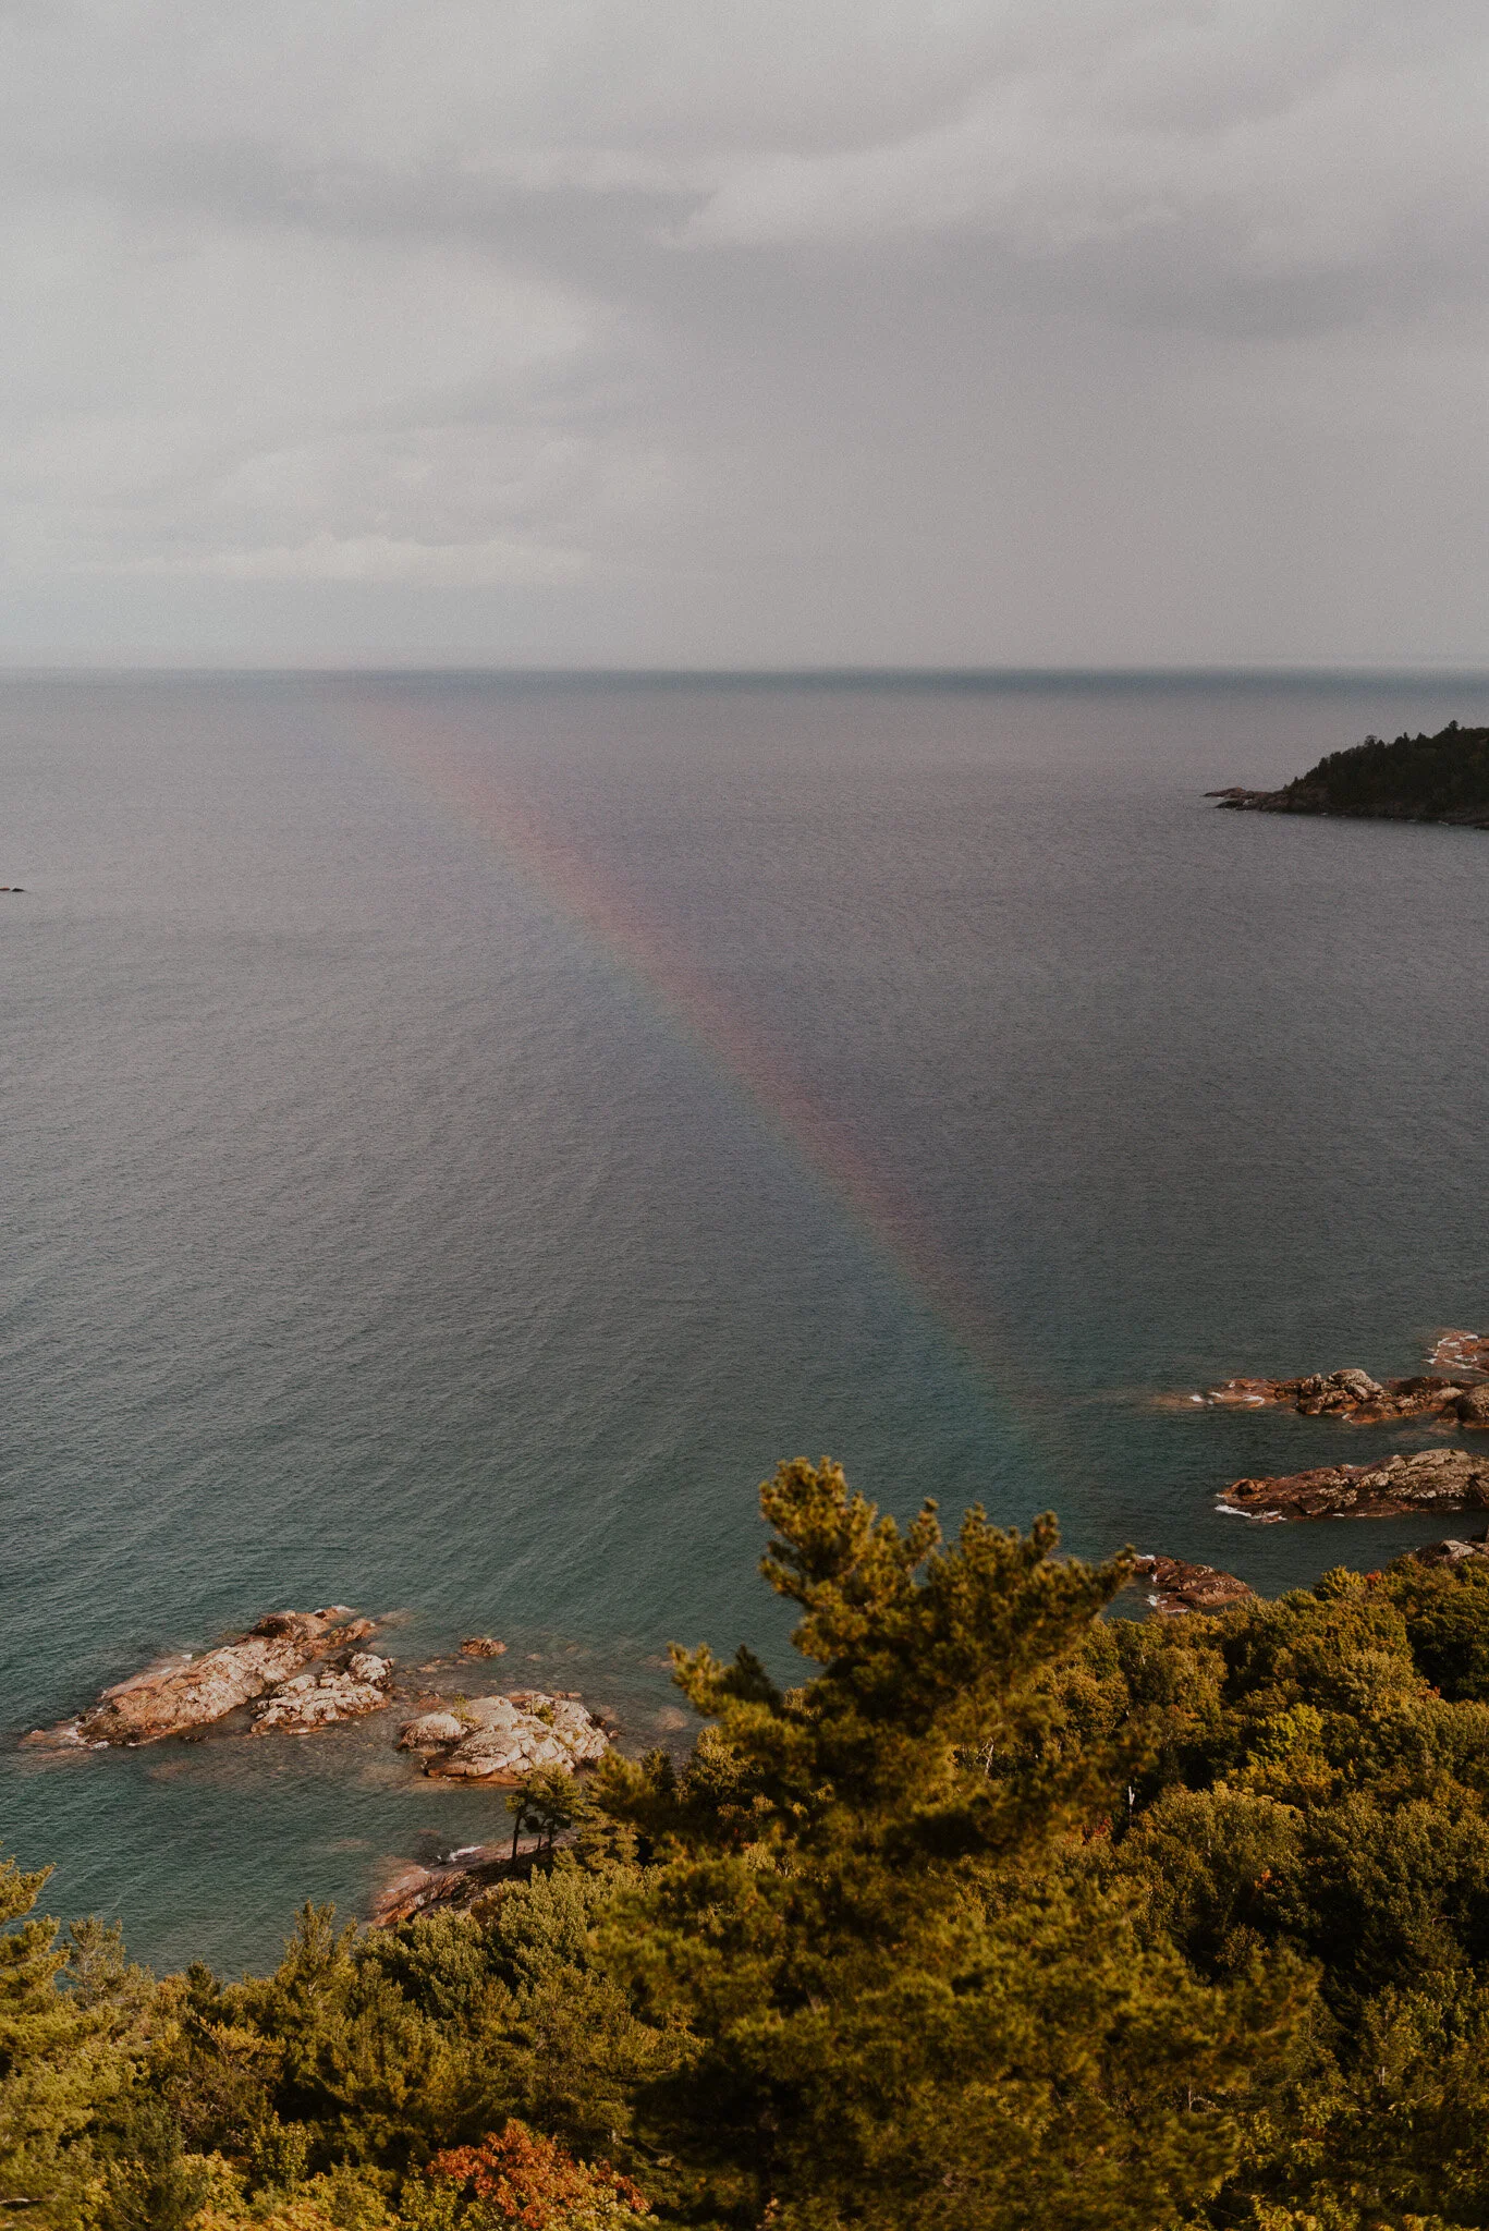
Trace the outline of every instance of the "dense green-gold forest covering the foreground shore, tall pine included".
{"label": "dense green-gold forest covering the foreground shore, tall pine included", "polygon": [[763,1488],[801,1680],[674,1653],[473,1912],[156,1983],[0,1876],[54,2231],[1489,2227],[1489,1571],[1103,1617],[1040,1519]]}

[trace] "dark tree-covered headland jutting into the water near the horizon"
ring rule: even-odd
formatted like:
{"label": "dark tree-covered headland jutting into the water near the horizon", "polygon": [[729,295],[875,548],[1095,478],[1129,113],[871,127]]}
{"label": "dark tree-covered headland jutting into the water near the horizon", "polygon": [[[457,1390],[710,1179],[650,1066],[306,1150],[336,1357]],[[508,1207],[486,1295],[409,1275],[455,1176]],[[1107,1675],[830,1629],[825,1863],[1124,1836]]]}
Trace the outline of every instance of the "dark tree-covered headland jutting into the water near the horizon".
{"label": "dark tree-covered headland jutting into the water near the horizon", "polygon": [[1449,821],[1489,830],[1489,727],[1449,721],[1435,736],[1366,736],[1328,752],[1281,790],[1208,790],[1239,812],[1346,814],[1355,821]]}

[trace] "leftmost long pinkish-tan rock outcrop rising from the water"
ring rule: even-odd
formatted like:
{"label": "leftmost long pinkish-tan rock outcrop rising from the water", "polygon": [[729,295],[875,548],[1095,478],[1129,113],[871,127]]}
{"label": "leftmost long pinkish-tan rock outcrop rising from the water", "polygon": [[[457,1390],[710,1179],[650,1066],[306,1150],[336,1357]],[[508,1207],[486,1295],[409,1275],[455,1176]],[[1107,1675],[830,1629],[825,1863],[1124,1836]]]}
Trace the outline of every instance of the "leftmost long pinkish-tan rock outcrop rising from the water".
{"label": "leftmost long pinkish-tan rock outcrop rising from the water", "polygon": [[38,1727],[25,1742],[47,1749],[98,1749],[118,1742],[161,1742],[223,1720],[290,1680],[333,1644],[362,1642],[373,1620],[348,1604],[326,1611],[270,1611],[237,1642],[201,1655],[163,1658],[143,1673],[105,1689],[96,1704],[60,1727]]}

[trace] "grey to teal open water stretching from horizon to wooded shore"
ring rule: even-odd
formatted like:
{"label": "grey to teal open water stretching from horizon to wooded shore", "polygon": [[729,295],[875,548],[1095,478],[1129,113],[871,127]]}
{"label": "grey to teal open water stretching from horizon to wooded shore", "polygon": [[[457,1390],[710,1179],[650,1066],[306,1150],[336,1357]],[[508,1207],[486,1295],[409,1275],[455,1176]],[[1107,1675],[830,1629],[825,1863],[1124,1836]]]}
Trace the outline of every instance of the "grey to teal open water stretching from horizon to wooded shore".
{"label": "grey to teal open water stretching from horizon to wooded shore", "polygon": [[1489,1330],[1489,839],[1201,799],[1447,718],[1489,683],[2,683],[0,1836],[54,1910],[261,1963],[505,1818],[384,1722],[13,1749],[270,1604],[665,1738],[667,1638],[781,1646],[779,1455],[1261,1586],[1411,1542],[1217,1515],[1335,1428],[1154,1397]]}

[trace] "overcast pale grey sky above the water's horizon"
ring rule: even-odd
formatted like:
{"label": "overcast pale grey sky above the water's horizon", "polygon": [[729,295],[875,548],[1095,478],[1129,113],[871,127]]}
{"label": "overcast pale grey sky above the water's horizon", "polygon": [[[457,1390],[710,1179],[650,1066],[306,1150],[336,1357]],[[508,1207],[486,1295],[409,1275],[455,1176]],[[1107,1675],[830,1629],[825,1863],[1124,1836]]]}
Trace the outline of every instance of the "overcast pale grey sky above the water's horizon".
{"label": "overcast pale grey sky above the water's horizon", "polygon": [[0,0],[0,658],[1489,663],[1482,0]]}

